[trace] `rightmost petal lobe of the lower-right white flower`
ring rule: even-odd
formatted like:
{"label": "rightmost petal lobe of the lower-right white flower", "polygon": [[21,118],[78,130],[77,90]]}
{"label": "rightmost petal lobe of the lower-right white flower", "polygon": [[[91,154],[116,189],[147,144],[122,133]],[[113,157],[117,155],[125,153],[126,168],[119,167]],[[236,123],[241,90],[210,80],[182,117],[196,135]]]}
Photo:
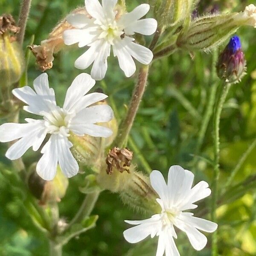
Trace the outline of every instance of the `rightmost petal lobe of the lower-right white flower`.
{"label": "rightmost petal lobe of the lower-right white flower", "polygon": [[194,217],[190,212],[182,212],[179,216],[179,219],[186,222],[188,225],[191,225],[192,227],[209,233],[214,232],[218,227],[218,224],[202,218]]}

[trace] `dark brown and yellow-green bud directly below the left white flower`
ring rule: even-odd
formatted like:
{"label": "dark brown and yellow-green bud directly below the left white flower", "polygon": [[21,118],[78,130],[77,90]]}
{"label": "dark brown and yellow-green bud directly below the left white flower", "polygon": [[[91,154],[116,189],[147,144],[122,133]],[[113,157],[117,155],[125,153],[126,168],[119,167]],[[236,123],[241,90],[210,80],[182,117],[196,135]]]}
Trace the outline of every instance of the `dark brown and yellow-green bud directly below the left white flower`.
{"label": "dark brown and yellow-green bud directly below the left white flower", "polygon": [[60,202],[64,197],[68,187],[68,179],[57,168],[57,173],[53,180],[43,180],[35,171],[36,164],[30,167],[31,174],[28,178],[29,190],[40,200],[40,204],[44,205],[52,202]]}

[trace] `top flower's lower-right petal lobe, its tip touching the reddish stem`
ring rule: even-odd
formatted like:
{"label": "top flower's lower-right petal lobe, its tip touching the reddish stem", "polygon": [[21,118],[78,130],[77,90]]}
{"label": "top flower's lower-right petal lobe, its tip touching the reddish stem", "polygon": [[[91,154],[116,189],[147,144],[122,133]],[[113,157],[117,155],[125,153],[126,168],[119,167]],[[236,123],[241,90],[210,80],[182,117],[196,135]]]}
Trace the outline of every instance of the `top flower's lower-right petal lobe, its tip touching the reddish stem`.
{"label": "top flower's lower-right petal lobe, its tip touching the reddish stem", "polygon": [[131,38],[125,37],[127,51],[142,64],[149,64],[153,59],[153,53],[150,49],[140,44],[135,44],[131,41]]}

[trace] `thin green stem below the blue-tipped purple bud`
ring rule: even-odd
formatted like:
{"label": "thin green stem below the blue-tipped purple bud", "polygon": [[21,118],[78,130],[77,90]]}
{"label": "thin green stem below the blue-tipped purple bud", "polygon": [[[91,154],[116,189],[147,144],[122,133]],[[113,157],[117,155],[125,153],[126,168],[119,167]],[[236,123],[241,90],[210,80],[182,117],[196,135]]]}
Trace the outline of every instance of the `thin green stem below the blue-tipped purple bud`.
{"label": "thin green stem below the blue-tipped purple bud", "polygon": [[[215,116],[213,119],[213,140],[214,140],[214,177],[212,183],[212,209],[211,209],[211,217],[213,222],[217,222],[216,218],[216,209],[217,209],[217,201],[218,201],[218,180],[220,175],[219,170],[219,153],[220,153],[220,137],[219,137],[219,127],[220,127],[220,118],[221,112],[223,109],[224,102],[227,98],[228,91],[230,89],[231,84],[225,84],[222,88],[220,97],[218,99]],[[218,237],[217,231],[212,235],[212,256],[218,256]]]}

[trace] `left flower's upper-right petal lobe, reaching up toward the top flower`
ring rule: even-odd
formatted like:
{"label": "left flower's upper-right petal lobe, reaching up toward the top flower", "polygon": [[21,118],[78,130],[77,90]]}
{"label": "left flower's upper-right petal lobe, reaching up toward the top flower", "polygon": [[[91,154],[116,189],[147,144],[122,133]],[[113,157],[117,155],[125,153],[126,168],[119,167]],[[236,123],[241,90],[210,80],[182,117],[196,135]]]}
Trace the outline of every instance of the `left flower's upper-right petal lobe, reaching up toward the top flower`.
{"label": "left flower's upper-right petal lobe, reaching up toward the top flower", "polygon": [[[86,73],[78,75],[67,90],[63,108],[67,111],[81,110],[81,101],[84,95],[95,85],[95,80]],[[84,108],[86,108],[85,106]]]}

